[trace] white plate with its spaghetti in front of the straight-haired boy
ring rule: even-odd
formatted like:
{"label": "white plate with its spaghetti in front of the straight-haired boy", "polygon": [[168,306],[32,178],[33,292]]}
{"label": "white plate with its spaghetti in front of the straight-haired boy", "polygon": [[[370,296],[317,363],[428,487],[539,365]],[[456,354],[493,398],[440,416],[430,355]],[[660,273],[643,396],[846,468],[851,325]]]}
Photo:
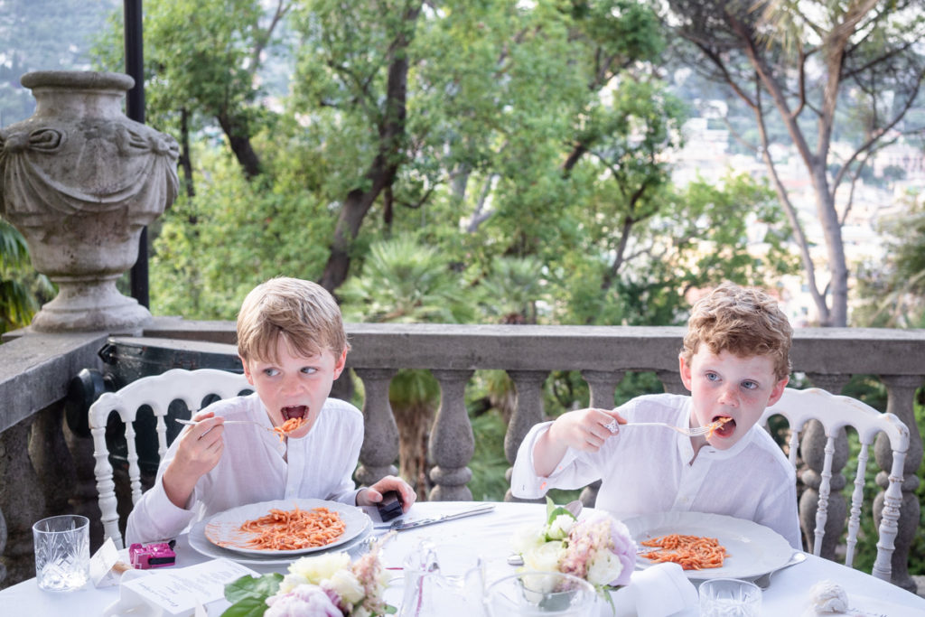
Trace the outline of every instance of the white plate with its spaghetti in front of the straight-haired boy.
{"label": "white plate with its spaghetti in front of the straight-haired boy", "polygon": [[223,549],[253,555],[301,555],[337,547],[359,536],[369,517],[327,500],[275,500],[220,512],[205,537]]}

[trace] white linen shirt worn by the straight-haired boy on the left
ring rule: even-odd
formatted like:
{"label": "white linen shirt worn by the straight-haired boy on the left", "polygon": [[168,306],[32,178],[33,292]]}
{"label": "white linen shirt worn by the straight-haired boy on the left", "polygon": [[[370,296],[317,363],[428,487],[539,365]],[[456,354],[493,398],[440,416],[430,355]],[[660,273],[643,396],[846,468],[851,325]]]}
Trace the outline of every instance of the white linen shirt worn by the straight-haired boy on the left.
{"label": "white linen shirt worn by the straight-haired boy on the left", "polygon": [[185,509],[167,498],[162,482],[179,445],[179,438],[174,439],[157,468],[154,486],[129,514],[127,546],[177,537],[217,512],[249,503],[301,498],[356,504],[352,475],[363,445],[363,413],[349,402],[327,399],[308,434],[285,442],[266,430],[273,425],[256,393],[216,401],[209,410],[265,428],[225,427],[222,457],[196,483]]}

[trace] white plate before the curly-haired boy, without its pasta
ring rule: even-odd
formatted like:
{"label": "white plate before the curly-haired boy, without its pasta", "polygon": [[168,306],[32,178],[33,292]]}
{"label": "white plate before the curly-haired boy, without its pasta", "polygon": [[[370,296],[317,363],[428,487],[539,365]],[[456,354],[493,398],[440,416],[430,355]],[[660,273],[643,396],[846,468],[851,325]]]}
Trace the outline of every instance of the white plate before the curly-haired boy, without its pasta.
{"label": "white plate before the curly-haired boy, without its pasta", "polygon": [[[722,514],[660,512],[623,521],[637,544],[669,534],[715,537],[729,553],[720,568],[685,570],[687,578],[752,578],[780,568],[794,549],[783,536],[764,525]],[[636,569],[653,565],[641,555]]]}

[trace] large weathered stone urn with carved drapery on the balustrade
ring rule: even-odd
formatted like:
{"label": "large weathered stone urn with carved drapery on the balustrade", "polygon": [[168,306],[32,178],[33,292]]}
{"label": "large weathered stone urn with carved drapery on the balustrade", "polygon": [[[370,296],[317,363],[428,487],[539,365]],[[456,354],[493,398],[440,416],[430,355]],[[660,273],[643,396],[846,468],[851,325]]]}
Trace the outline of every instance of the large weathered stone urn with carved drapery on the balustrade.
{"label": "large weathered stone urn with carved drapery on the balustrade", "polygon": [[58,286],[31,328],[137,332],[151,319],[116,287],[142,228],[177,197],[177,142],[122,113],[121,73],[37,71],[35,113],[0,129],[0,215]]}

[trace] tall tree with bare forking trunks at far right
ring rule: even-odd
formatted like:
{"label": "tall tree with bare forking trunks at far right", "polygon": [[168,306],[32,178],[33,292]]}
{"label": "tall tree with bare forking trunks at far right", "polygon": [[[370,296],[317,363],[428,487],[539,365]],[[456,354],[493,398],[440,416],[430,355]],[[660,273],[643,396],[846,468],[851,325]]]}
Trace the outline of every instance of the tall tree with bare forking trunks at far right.
{"label": "tall tree with bare forking trunks at far right", "polygon": [[[925,17],[917,0],[669,0],[674,28],[689,47],[685,61],[724,84],[751,112],[754,144],[793,229],[809,292],[823,326],[847,325],[848,264],[842,225],[852,186],[871,154],[895,139],[919,98],[925,56],[918,41]],[[692,51],[696,56],[690,56]],[[704,62],[706,60],[706,62]],[[840,96],[843,91],[850,96]],[[828,281],[817,278],[793,195],[771,156],[773,115],[796,148],[816,201],[827,248]],[[833,135],[845,121],[863,137],[845,160]],[[840,164],[833,177],[831,162]],[[847,205],[840,204],[845,191]]]}

